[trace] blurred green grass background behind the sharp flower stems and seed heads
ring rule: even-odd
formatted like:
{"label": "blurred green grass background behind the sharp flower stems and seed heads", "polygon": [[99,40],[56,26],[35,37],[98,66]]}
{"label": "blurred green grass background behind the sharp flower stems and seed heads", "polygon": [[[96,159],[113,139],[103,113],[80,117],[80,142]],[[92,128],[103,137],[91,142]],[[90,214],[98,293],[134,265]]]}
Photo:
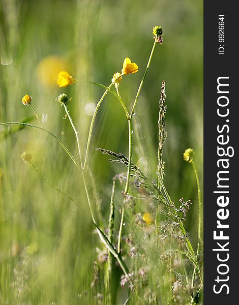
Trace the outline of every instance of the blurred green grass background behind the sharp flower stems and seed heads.
{"label": "blurred green grass background behind the sharp flower stems and seed heads", "polygon": [[[37,112],[47,115],[46,129],[60,137],[75,155],[73,131],[55,97],[63,92],[72,97],[69,111],[84,151],[91,121],[85,105],[97,103],[103,93],[86,81],[108,85],[113,73],[121,71],[124,58],[130,57],[139,71],[124,77],[119,87],[130,107],[153,45],[152,27],[162,25],[163,45],[156,46],[136,107],[133,162],[147,160],[144,170],[156,179],[158,101],[165,80],[165,184],[174,202],[180,197],[192,199],[186,227],[194,246],[197,189],[183,152],[194,148],[202,182],[202,13],[201,0],[1,0],[0,5],[1,62],[13,60],[10,65],[0,66],[0,121],[32,116],[31,109],[21,103],[21,98],[29,94]],[[39,81],[37,66],[49,55],[67,60],[69,72],[78,79],[76,84],[58,88]],[[34,118],[32,123],[38,125]],[[88,292],[85,303],[94,303],[91,273],[100,242],[89,221],[79,173],[47,134],[24,128],[6,136],[6,130],[0,129],[0,303],[78,304],[84,291]],[[109,94],[98,113],[91,147],[127,155],[127,120],[121,105]],[[23,163],[20,155],[24,150],[32,154],[33,163],[55,186],[78,200],[87,217]],[[89,165],[107,220],[111,178],[125,168],[109,163],[107,156],[94,150]],[[116,205],[121,204],[120,192],[117,186]],[[146,211],[147,206],[141,206],[141,212]],[[25,247],[29,251],[24,261],[21,253]],[[125,291],[115,289],[115,294],[117,303],[123,303]]]}

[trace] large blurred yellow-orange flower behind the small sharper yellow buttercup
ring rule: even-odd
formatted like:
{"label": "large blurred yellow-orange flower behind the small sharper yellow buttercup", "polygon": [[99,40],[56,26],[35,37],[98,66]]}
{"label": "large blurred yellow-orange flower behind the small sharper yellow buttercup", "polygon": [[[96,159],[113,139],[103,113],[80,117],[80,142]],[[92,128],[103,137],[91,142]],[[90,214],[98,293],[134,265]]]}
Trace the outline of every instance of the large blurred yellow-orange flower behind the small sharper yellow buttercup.
{"label": "large blurred yellow-orange flower behind the small sharper yellow buttercup", "polygon": [[42,85],[54,87],[59,72],[70,69],[67,61],[57,55],[43,58],[37,66],[37,76]]}

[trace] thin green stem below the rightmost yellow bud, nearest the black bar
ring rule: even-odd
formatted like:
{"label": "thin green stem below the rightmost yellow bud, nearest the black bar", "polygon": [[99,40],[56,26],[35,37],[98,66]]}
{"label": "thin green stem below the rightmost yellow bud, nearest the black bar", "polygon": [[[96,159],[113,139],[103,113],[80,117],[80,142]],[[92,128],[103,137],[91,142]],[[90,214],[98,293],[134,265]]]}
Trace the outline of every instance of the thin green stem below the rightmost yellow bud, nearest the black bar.
{"label": "thin green stem below the rightmost yellow bud, nearest the black bar", "polygon": [[[197,194],[198,194],[198,235],[197,235],[197,253],[196,253],[196,259],[197,262],[199,261],[199,252],[200,252],[200,241],[201,241],[201,190],[200,190],[200,183],[199,183],[199,178],[198,178],[198,174],[197,174],[197,169],[194,163],[194,160],[192,160],[192,165],[193,165],[193,169],[194,169],[194,173],[195,173],[195,177],[196,177],[196,181],[197,181]],[[194,284],[195,284],[195,274],[196,274],[196,266],[194,267],[193,270],[193,277],[192,277],[192,293],[194,295]]]}

